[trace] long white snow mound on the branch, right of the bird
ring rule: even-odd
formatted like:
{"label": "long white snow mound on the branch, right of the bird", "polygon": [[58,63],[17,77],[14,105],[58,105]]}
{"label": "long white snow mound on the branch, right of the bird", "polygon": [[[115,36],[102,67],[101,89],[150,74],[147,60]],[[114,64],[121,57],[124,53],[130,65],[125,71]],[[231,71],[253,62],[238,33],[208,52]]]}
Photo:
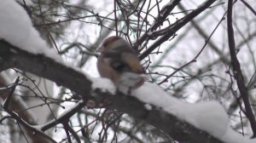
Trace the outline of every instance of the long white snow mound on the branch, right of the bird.
{"label": "long white snow mound on the branch, right of the bird", "polygon": [[132,90],[131,95],[148,105],[160,107],[226,143],[256,142],[256,139],[249,140],[248,137],[243,137],[230,128],[228,115],[217,101],[185,103],[166,94],[154,83],[144,83],[142,87]]}

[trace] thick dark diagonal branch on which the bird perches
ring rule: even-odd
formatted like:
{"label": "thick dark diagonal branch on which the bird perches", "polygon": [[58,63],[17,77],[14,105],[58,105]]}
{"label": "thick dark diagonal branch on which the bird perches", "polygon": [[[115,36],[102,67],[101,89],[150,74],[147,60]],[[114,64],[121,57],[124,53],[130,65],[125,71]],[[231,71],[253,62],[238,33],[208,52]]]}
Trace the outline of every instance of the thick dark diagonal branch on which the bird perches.
{"label": "thick dark diagonal branch on which the bird perches", "polygon": [[207,142],[221,143],[210,134],[200,129],[196,129],[189,123],[180,121],[170,113],[164,112],[159,108],[153,107],[148,111],[143,102],[127,95],[110,95],[95,91],[96,95],[91,96],[91,82],[83,73],[73,70],[71,67],[63,66],[45,57],[42,54],[30,54],[24,50],[18,49],[9,43],[0,41],[0,70],[3,67],[15,67],[22,71],[32,72],[39,77],[45,77],[49,80],[73,90],[83,96],[84,101],[91,99],[101,102],[108,98],[112,103],[108,106],[111,109],[125,112],[132,117],[136,117],[161,129],[169,134],[174,140],[179,142]]}

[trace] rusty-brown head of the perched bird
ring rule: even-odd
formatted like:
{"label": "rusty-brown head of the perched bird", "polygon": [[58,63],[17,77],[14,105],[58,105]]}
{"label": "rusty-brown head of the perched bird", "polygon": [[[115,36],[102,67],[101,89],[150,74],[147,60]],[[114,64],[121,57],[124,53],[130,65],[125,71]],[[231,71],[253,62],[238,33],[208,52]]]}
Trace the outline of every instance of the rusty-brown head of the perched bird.
{"label": "rusty-brown head of the perched bird", "polygon": [[125,45],[128,45],[128,43],[126,43],[126,41],[121,37],[116,37],[116,36],[107,37],[103,40],[102,45],[96,51],[101,53],[108,49],[114,49],[119,46],[125,46]]}

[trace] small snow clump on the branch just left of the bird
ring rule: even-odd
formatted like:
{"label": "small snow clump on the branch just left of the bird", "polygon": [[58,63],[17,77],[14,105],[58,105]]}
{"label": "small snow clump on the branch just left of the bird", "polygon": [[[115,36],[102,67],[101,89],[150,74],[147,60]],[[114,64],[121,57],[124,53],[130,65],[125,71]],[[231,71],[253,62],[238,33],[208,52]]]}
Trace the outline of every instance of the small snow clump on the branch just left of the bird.
{"label": "small snow clump on the branch just left of the bird", "polygon": [[115,85],[108,78],[90,77],[90,81],[92,82],[91,89],[93,90],[100,89],[102,92],[110,94],[115,94],[116,92]]}

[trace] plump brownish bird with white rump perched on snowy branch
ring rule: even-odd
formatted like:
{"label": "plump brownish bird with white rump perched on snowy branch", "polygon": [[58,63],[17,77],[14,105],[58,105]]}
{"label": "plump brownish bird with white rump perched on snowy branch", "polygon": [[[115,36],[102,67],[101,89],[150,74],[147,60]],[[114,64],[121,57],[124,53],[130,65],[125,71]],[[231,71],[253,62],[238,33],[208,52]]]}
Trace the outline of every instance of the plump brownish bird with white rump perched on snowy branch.
{"label": "plump brownish bird with white rump perched on snowy branch", "polygon": [[100,52],[98,72],[102,77],[109,78],[121,92],[130,94],[131,89],[143,85],[143,66],[136,52],[123,38],[107,37],[97,52]]}

